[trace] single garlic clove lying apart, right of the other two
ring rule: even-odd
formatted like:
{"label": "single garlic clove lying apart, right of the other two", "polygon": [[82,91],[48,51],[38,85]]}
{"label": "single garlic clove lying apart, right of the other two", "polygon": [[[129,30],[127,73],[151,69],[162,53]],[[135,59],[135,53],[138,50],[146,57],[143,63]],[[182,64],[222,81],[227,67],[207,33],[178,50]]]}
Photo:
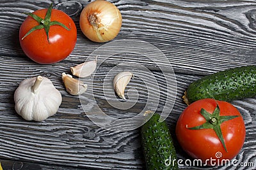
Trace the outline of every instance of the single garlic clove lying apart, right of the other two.
{"label": "single garlic clove lying apart, right of the other two", "polygon": [[133,77],[133,74],[129,71],[124,71],[124,72],[116,74],[116,76],[113,80],[113,85],[114,85],[116,94],[120,98],[125,99],[124,90],[125,90],[125,87],[127,86],[127,84],[130,82],[132,77]]}

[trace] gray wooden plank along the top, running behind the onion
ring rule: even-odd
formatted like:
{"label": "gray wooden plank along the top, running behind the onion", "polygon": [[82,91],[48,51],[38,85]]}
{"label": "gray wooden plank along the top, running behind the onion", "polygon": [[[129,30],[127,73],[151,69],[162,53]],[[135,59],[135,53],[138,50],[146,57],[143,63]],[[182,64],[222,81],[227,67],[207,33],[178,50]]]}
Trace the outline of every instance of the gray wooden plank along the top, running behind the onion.
{"label": "gray wooden plank along the top, running behind the onion", "polygon": [[[87,4],[80,1],[77,3],[81,6]],[[166,54],[175,71],[185,73],[205,74],[228,67],[255,64],[255,2],[208,3],[209,5],[205,6],[205,3],[196,1],[115,1],[124,17],[122,30],[116,39],[135,38],[148,41]],[[8,15],[1,15],[0,22],[10,24],[1,29],[1,34],[4,35],[1,40],[4,41],[1,43],[1,52],[8,55],[15,50],[13,54],[23,56],[19,42],[9,41],[17,37],[19,25],[26,17],[21,12],[43,8],[47,3],[8,1],[2,3],[3,5],[5,6],[2,13],[7,10]],[[55,3],[55,6],[58,6],[58,3]],[[77,7],[77,10],[81,8]],[[78,14],[72,18],[77,25],[78,39],[76,48],[67,62],[84,60],[85,56],[101,45],[92,43],[83,36],[79,30]],[[110,62],[115,64],[116,60]],[[163,67],[168,67],[168,64],[163,62]]]}

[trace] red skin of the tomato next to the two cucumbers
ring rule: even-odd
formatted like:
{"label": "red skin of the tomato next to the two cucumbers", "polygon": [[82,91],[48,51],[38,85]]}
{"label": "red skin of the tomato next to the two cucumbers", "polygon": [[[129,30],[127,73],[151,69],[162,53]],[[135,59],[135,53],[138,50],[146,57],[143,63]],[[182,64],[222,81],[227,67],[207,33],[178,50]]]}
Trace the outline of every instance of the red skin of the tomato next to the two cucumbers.
{"label": "red skin of the tomato next to the two cucumbers", "polygon": [[[225,150],[214,129],[189,129],[208,122],[200,113],[202,108],[210,113],[210,120],[216,118],[214,119],[216,123],[220,123],[220,117],[212,116],[217,103],[220,108],[220,117],[237,116],[220,124],[224,145],[227,150]],[[210,124],[212,124],[211,122]],[[241,117],[239,111],[230,103],[214,99],[202,99],[190,104],[182,112],[176,125],[177,139],[183,150],[191,157],[201,159],[204,164],[209,166],[215,166],[221,160],[230,160],[236,157],[243,147],[245,134],[243,117]],[[213,164],[210,162],[211,159],[215,159]]]}

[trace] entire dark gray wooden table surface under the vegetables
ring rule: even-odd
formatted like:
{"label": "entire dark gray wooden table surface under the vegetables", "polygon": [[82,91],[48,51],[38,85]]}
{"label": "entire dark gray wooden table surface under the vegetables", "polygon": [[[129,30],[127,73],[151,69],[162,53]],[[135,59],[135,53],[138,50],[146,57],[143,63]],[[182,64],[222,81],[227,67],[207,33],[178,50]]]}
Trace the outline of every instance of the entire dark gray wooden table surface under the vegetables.
{"label": "entire dark gray wooden table surface under the vegetables", "polygon": [[[28,59],[22,52],[19,27],[26,18],[24,12],[47,8],[51,2],[54,8],[65,11],[76,23],[77,43],[67,59],[42,65]],[[184,90],[191,82],[207,74],[256,64],[254,0],[111,0],[121,11],[123,24],[120,33],[110,44],[93,43],[81,32],[79,15],[88,3],[90,1],[85,0],[1,0],[0,162],[4,169],[145,169],[140,128],[108,131],[94,124],[86,114],[93,114],[89,105],[96,103],[111,117],[133,117],[145,109],[148,90],[156,90],[156,101],[159,100],[157,111],[161,112],[164,106],[170,111],[166,122],[173,134],[178,158],[188,159],[174,133],[175,123],[186,108],[182,101]],[[139,50],[152,45],[168,60],[154,60],[143,56],[143,53],[133,53],[132,48],[127,52],[121,50],[113,56],[100,55],[99,68],[88,78],[88,81],[93,82],[93,89],[88,89],[95,101],[88,97],[89,104],[82,106],[81,97],[66,92],[61,73],[70,73],[70,66],[89,59],[95,52],[113,52],[111,45],[116,45],[116,42],[118,45],[118,41],[129,41],[132,48],[137,47]],[[134,41],[134,46],[131,41]],[[140,67],[136,70],[131,66],[129,69],[141,73],[145,80],[150,78],[148,71],[154,74],[157,85],[152,83],[151,89],[147,89],[140,80],[141,75],[135,74],[125,93],[129,90],[131,101],[136,98],[132,98],[132,95],[137,93],[136,104],[128,110],[122,110],[111,106],[111,102],[116,103],[120,99],[113,93],[109,78],[118,73],[118,69],[113,68],[120,64],[125,67],[129,63],[141,66],[141,70]],[[172,71],[175,73],[176,92],[174,97],[169,98],[171,102],[166,100],[169,95],[166,93],[163,70],[167,74]],[[53,117],[44,122],[28,122],[15,112],[13,93],[22,80],[38,75],[46,76],[54,83],[61,92],[63,102]],[[83,97],[90,96],[88,93]],[[239,162],[253,162],[254,167],[185,166],[180,169],[256,169],[256,99],[233,101],[232,104],[241,111],[246,124],[246,141],[236,159]]]}

